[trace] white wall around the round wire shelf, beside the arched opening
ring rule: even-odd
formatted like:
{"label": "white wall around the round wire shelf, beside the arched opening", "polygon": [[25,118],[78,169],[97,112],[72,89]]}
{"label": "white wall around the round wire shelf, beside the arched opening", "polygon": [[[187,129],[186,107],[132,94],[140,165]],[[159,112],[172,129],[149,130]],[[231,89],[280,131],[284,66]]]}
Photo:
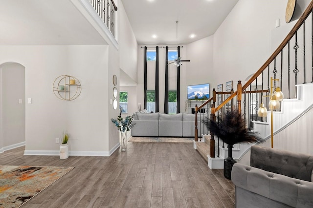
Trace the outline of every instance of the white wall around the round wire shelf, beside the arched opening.
{"label": "white wall around the round wire shelf, beside the arched opening", "polygon": [[[72,151],[102,154],[118,143],[118,132],[109,126],[118,110],[108,99],[118,60],[109,62],[108,53],[107,45],[0,47],[0,63],[25,66],[25,97],[32,98],[32,104],[26,104],[26,152],[58,150],[55,138],[66,130]],[[52,91],[52,83],[62,74],[76,77],[82,85],[74,101],[59,100]]]}

